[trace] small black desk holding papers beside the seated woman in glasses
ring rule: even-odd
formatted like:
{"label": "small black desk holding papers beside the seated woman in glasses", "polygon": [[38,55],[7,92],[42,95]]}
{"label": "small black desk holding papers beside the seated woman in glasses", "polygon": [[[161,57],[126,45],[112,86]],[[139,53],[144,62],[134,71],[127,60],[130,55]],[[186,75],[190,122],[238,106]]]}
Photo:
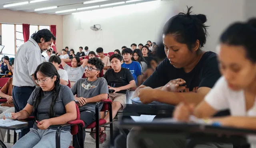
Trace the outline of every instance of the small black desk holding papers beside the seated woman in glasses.
{"label": "small black desk holding papers beside the seated woman in glasses", "polygon": [[[23,120],[20,120],[21,122],[28,122],[28,121],[23,121]],[[2,129],[6,129],[8,130],[14,130],[14,139],[13,139],[13,144],[16,143],[16,140],[17,140],[17,133],[15,130],[22,130],[24,128],[27,128],[28,127],[28,123],[24,123],[24,124],[18,124],[18,125],[13,125],[13,126],[0,126],[0,128]],[[7,133],[7,134],[10,134],[10,133]],[[8,137],[9,139],[7,139],[8,142],[10,142],[10,137]],[[2,148],[6,148],[6,145],[4,144],[3,141],[0,140],[0,145],[2,146]]]}

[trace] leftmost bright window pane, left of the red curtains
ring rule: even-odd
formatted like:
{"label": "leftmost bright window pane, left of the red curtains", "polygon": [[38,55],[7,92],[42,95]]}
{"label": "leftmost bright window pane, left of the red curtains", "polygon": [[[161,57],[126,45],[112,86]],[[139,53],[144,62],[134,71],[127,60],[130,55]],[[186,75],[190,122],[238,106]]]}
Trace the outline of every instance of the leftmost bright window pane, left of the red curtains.
{"label": "leftmost bright window pane, left of the red curtains", "polygon": [[4,45],[2,54],[15,55],[14,24],[2,24],[2,45]]}

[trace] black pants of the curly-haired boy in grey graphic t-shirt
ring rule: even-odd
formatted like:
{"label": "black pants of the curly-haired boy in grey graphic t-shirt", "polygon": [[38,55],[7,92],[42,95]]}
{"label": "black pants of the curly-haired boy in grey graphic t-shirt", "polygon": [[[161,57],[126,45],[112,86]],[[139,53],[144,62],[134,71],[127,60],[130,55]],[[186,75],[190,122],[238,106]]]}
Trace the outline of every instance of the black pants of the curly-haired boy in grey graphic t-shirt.
{"label": "black pants of the curly-haired boy in grey graphic t-shirt", "polygon": [[[92,111],[80,111],[80,119],[84,121],[84,128],[83,128],[83,142],[84,142],[85,134],[86,134],[85,128],[96,120],[95,113]],[[75,138],[77,139],[78,136],[76,135]],[[78,140],[74,141],[74,147],[75,148],[79,147]]]}

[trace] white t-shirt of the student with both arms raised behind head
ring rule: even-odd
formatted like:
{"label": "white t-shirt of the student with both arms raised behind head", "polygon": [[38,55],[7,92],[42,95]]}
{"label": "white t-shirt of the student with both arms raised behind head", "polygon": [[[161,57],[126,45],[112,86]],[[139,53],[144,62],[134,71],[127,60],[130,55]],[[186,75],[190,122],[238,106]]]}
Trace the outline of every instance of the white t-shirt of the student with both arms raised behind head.
{"label": "white t-shirt of the student with both arms raised behind head", "polygon": [[85,67],[82,65],[80,67],[73,68],[66,64],[63,68],[67,71],[68,79],[71,82],[76,82],[77,80],[81,79],[85,71]]}

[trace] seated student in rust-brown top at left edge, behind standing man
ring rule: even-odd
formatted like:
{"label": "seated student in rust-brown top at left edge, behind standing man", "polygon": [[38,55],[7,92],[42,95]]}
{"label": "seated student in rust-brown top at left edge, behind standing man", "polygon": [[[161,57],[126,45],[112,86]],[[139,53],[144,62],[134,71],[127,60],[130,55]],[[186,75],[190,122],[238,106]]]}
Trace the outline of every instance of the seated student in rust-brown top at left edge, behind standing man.
{"label": "seated student in rust-brown top at left edge, behind standing man", "polygon": [[[14,60],[12,60],[11,67],[12,67],[12,73],[13,73]],[[4,117],[4,113],[14,112],[14,105],[13,105],[13,100],[12,100],[12,88],[13,88],[13,85],[12,85],[12,77],[11,77],[7,81],[7,83],[4,85],[4,87],[2,87],[0,89],[0,97],[7,99],[6,103],[2,103],[0,105],[0,118]],[[5,133],[6,133],[6,129],[1,128],[0,129],[0,140],[1,141],[4,141]]]}

